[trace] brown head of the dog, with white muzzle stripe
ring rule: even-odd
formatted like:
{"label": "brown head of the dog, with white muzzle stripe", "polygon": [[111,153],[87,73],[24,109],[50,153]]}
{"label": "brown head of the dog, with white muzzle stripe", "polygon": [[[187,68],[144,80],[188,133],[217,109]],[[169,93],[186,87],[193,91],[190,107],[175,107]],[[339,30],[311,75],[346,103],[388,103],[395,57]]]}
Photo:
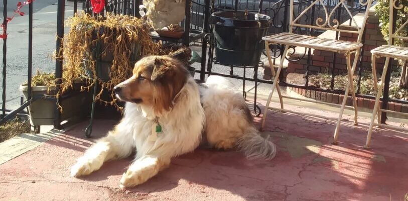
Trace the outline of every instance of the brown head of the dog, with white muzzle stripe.
{"label": "brown head of the dog, with white muzzle stripe", "polygon": [[116,97],[150,106],[155,113],[169,111],[189,77],[187,69],[169,56],[148,56],[138,61],[133,75],[116,85]]}

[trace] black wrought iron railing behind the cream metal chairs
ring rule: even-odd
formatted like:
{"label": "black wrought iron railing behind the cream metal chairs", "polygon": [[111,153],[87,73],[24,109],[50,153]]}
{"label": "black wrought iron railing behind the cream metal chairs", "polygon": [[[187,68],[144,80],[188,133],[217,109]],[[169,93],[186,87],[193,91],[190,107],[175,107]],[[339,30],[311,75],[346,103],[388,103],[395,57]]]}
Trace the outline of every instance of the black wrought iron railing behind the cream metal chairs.
{"label": "black wrought iron railing behind the cream metal chairs", "polygon": [[[314,0],[300,0],[298,2],[294,3],[295,9],[294,9],[294,16],[296,16],[297,14],[299,14],[300,12],[303,11],[303,9],[305,9],[306,7],[308,7],[310,5],[311,2],[313,2]],[[333,9],[333,7],[330,7],[330,5],[336,5],[338,3],[338,0],[326,0],[324,1],[325,5],[329,5],[327,7],[328,9],[328,13],[331,12],[331,10]],[[373,5],[375,4],[375,0]],[[366,11],[367,8],[364,5],[360,4],[359,0],[349,0],[347,1],[347,8],[350,10],[350,12],[352,13],[352,15],[356,15],[357,13],[363,13]],[[214,2],[214,12],[215,11],[221,11],[221,10],[249,10],[252,12],[259,12],[262,14],[266,14],[269,15],[272,19],[272,24],[273,26],[271,26],[268,30],[268,34],[277,34],[277,33],[281,33],[281,32],[287,32],[289,30],[289,0],[280,0],[280,1],[247,1],[247,0],[215,0]],[[322,16],[323,18],[325,18],[324,16],[324,12],[322,12],[322,8],[320,4],[316,4],[315,8],[313,8],[310,12],[308,12],[306,14],[306,17],[301,19],[303,20],[302,23],[299,24],[312,24],[314,23],[315,19],[317,19],[318,17]],[[352,21],[350,19],[349,14],[344,10],[344,9],[338,9],[333,16],[336,16],[336,19],[339,20],[339,24],[343,24],[344,22],[349,21],[348,25],[352,26]],[[396,20],[396,18],[394,18],[394,20]],[[395,25],[395,22],[393,23]],[[366,28],[366,27],[365,27]],[[365,35],[366,30],[364,30],[363,35]],[[305,35],[313,35],[313,36],[318,36],[321,33],[323,33],[322,31],[318,31],[318,30],[311,30],[311,29],[306,29],[306,28],[295,28],[293,30],[294,33],[297,34],[305,34]],[[336,39],[339,39],[339,33],[336,33]],[[362,38],[362,43],[365,43],[365,37]],[[283,48],[282,46],[277,46],[277,45],[271,45],[270,47],[271,51],[271,55],[273,55],[273,61],[275,64],[275,61],[277,59],[279,59],[282,55],[281,53],[283,52]],[[296,49],[295,47],[291,47],[292,48],[292,54],[295,54]],[[364,47],[361,48],[361,52],[359,54],[358,59],[358,64],[357,64],[357,92],[356,92],[356,96],[357,97],[364,97],[364,98],[369,98],[369,99],[374,99],[375,96],[374,95],[370,95],[370,94],[362,94],[360,93],[360,88],[361,88],[361,79],[362,79],[362,72],[364,70],[371,70],[370,69],[364,69],[363,66],[361,66],[362,63],[362,58],[364,56]],[[311,70],[310,70],[310,66],[311,66],[311,51],[308,48],[305,48],[304,54],[303,56],[301,56],[300,58],[297,58],[296,60],[291,60],[290,58],[287,58],[288,60],[290,60],[291,62],[296,62],[299,61],[303,58],[307,57],[307,67],[306,67],[306,72],[305,72],[305,83],[302,85],[298,85],[298,84],[292,84],[289,82],[286,82],[286,80],[283,77],[283,73],[281,73],[280,75],[280,85],[282,86],[287,86],[287,87],[298,87],[298,88],[302,88],[302,89],[309,89],[309,90],[315,90],[315,91],[324,91],[324,92],[329,92],[329,93],[336,93],[336,94],[344,94],[344,90],[342,89],[336,89],[334,88],[334,82],[335,82],[335,77],[339,76],[341,74],[341,70],[340,69],[336,69],[336,57],[337,54],[334,53],[333,55],[333,60],[332,60],[332,65],[331,65],[331,84],[330,87],[327,89],[323,89],[323,88],[317,88],[315,86],[309,86],[309,76],[311,75]],[[396,63],[394,63],[396,64]],[[389,63],[389,65],[391,65],[391,62]],[[383,97],[381,98],[382,100],[382,108],[387,108],[387,104],[388,102],[394,102],[394,103],[399,103],[399,104],[408,104],[408,100],[403,100],[403,99],[395,99],[395,98],[390,98],[389,97],[389,81],[390,81],[390,76],[391,76],[391,67],[388,68],[388,72],[386,74],[386,78],[385,78],[385,84],[384,84],[384,93],[383,93]],[[204,72],[206,74],[209,74],[208,72]],[[221,75],[219,73],[214,73],[212,72],[211,74],[218,74]],[[225,75],[227,77],[232,77],[232,78],[238,78],[235,76],[231,76],[231,75]],[[241,77],[239,77],[240,79],[242,79]],[[270,83],[270,80],[262,80],[262,79],[258,79],[258,78],[246,78],[246,80],[249,81],[259,81],[259,82],[263,82],[263,83]],[[386,121],[386,113],[382,114],[382,123],[385,123]]]}

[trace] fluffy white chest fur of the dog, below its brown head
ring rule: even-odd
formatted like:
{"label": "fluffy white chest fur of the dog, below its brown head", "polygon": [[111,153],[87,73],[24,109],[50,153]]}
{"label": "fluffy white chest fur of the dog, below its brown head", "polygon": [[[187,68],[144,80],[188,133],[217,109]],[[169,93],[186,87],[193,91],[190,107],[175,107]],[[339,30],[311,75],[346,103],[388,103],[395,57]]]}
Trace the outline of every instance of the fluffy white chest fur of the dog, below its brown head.
{"label": "fluffy white chest fur of the dog, below its brown head", "polygon": [[[198,98],[196,101],[194,103],[199,103]],[[176,106],[171,113],[159,118],[158,123],[162,131],[157,133],[157,138],[152,138],[155,139],[152,141],[149,140],[149,136],[156,135],[155,131],[152,133],[153,118],[147,117],[140,106],[126,104],[122,123],[128,135],[132,135],[137,158],[149,154],[174,157],[192,151],[198,146],[203,130],[204,113],[200,114],[197,111],[203,109],[195,104],[196,109],[186,113],[186,107],[191,106]]]}

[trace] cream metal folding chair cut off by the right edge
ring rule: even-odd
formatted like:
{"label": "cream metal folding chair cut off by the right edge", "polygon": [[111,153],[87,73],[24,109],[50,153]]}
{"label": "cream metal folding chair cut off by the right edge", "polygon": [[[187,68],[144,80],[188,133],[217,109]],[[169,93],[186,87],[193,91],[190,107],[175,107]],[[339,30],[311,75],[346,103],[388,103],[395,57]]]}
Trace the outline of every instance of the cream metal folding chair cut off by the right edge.
{"label": "cream metal folding chair cut off by the right edge", "polygon": [[[408,36],[406,35],[401,35],[401,30],[402,29],[408,29],[408,19],[405,19],[404,22],[399,27],[395,27],[395,31],[393,32],[393,13],[394,11],[404,9],[402,5],[397,6],[396,3],[398,0],[389,0],[389,40],[388,40],[388,45],[381,45],[380,47],[377,47],[373,50],[371,50],[371,67],[372,67],[372,75],[374,78],[374,90],[377,93],[376,98],[375,98],[375,104],[374,104],[374,109],[371,115],[371,122],[370,122],[370,127],[368,128],[368,134],[367,134],[367,140],[365,143],[364,148],[369,149],[370,148],[370,142],[371,142],[371,134],[374,125],[384,127],[384,128],[393,128],[393,129],[401,129],[400,127],[392,126],[392,125],[385,125],[381,124],[381,112],[385,113],[394,113],[394,114],[400,114],[400,115],[405,115],[408,116],[406,113],[400,113],[400,112],[395,112],[395,111],[390,111],[386,109],[380,109],[379,107],[379,99],[382,95],[382,91],[384,88],[384,80],[385,80],[385,75],[388,69],[388,64],[390,62],[390,58],[395,58],[395,59],[402,59],[402,60],[408,60],[408,47],[399,47],[395,46],[392,44],[393,39],[402,39],[402,40],[408,40]],[[394,10],[395,9],[395,10]],[[396,25],[395,25],[396,26]],[[376,69],[375,69],[375,62],[377,58],[380,57],[385,57],[385,64],[384,64],[384,69],[382,70],[382,75],[381,75],[381,83],[380,86],[377,86],[377,74],[376,74]],[[375,116],[378,115],[378,123],[375,123]]]}

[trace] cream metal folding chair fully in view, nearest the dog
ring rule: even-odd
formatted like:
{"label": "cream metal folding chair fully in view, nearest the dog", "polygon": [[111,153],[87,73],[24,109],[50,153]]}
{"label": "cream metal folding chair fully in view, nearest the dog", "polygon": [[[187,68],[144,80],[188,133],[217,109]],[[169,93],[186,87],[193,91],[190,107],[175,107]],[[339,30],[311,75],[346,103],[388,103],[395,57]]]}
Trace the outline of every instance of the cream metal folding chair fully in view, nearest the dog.
{"label": "cream metal folding chair fully in view, nearest the dog", "polygon": [[[339,133],[339,128],[340,128],[340,122],[341,118],[343,116],[343,111],[346,105],[347,97],[351,89],[351,95],[353,97],[353,108],[354,108],[354,124],[357,125],[357,103],[356,103],[356,98],[355,98],[355,92],[354,92],[354,87],[353,87],[353,74],[357,65],[358,61],[358,56],[360,54],[360,50],[363,46],[361,44],[361,40],[363,36],[363,31],[364,27],[366,24],[366,20],[368,17],[369,13],[369,8],[371,7],[372,0],[367,0],[365,3],[362,2],[363,0],[360,0],[360,4],[362,6],[367,6],[363,22],[361,23],[361,26],[357,24],[357,22],[354,19],[354,16],[350,12],[350,10],[347,8],[347,0],[339,0],[338,4],[334,6],[333,10],[328,13],[327,10],[327,5],[325,5],[325,2],[332,2],[332,1],[325,1],[325,0],[314,0],[312,1],[311,5],[308,6],[302,13],[300,13],[295,19],[294,19],[294,0],[290,0],[290,28],[289,28],[289,33],[280,33],[276,35],[271,35],[271,36],[265,36],[262,39],[265,41],[265,47],[266,50],[269,48],[269,44],[282,44],[285,45],[285,50],[282,54],[281,62],[279,63],[278,71],[275,73],[275,69],[273,67],[273,62],[270,57],[269,51],[266,51],[266,55],[268,57],[269,61],[269,67],[271,68],[272,74],[275,76],[273,86],[270,89],[269,92],[269,97],[266,102],[265,110],[263,113],[262,117],[262,124],[261,124],[261,129],[263,129],[264,124],[265,124],[265,119],[267,115],[268,109],[274,109],[278,110],[281,112],[293,112],[299,114],[299,112],[294,112],[294,111],[289,111],[281,108],[272,108],[269,107],[270,104],[270,99],[274,93],[274,89],[277,88],[278,92],[279,91],[279,74],[281,73],[285,56],[288,52],[289,46],[298,46],[298,47],[305,47],[305,48],[312,48],[312,49],[317,49],[317,50],[324,50],[324,51],[330,51],[330,52],[335,52],[339,54],[344,54],[346,56],[347,60],[347,72],[348,72],[348,84],[345,90],[345,98],[343,98],[343,102],[341,105],[340,109],[340,114],[339,117],[337,118],[337,125],[336,125],[336,130],[334,132],[334,139],[333,139],[333,144],[337,143],[337,138],[338,138],[338,133]],[[321,17],[317,18],[316,22],[313,25],[305,25],[305,24],[300,24],[300,19],[302,16],[305,16],[305,14],[313,8],[314,5],[319,5],[323,7],[323,10],[325,12],[325,17],[326,19],[323,19]],[[333,19],[333,14],[335,11],[339,8],[343,8],[350,16],[351,21],[353,22],[353,26],[356,27],[357,30],[348,30],[348,29],[342,29],[342,27],[339,26],[339,20],[338,19]],[[341,41],[341,40],[335,40],[335,39],[325,39],[325,38],[318,38],[318,37],[313,37],[313,36],[304,36],[304,35],[299,35],[299,34],[294,34],[292,33],[294,27],[299,27],[299,28],[311,28],[314,30],[333,30],[336,32],[347,32],[347,33],[354,33],[358,34],[358,38],[356,42],[350,42],[350,41]],[[353,63],[351,64],[351,55],[355,55],[355,59]],[[334,104],[329,104],[325,102],[319,102],[316,100],[307,100],[307,99],[300,99],[300,98],[295,98],[295,97],[290,97],[290,96],[282,96],[280,93],[278,93],[281,105],[283,105],[283,97],[288,98],[288,99],[297,99],[297,100],[305,100],[307,102],[313,102],[313,103],[321,103],[325,105],[334,105]],[[303,113],[300,113],[303,114]],[[317,116],[321,117],[318,115],[314,114],[307,114],[310,116]]]}

